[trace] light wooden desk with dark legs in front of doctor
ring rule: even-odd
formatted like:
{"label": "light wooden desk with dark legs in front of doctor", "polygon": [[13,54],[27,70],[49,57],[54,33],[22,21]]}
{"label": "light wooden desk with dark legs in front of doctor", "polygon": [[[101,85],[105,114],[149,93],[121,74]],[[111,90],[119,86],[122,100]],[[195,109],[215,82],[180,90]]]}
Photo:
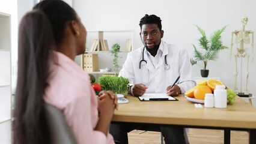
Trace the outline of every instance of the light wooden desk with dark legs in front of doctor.
{"label": "light wooden desk with dark legs in front of doctor", "polygon": [[224,143],[230,143],[230,130],[246,130],[249,143],[256,143],[256,109],[240,97],[225,109],[195,108],[183,95],[175,98],[178,101],[139,101],[128,96],[129,103],[119,104],[112,122],[222,129]]}

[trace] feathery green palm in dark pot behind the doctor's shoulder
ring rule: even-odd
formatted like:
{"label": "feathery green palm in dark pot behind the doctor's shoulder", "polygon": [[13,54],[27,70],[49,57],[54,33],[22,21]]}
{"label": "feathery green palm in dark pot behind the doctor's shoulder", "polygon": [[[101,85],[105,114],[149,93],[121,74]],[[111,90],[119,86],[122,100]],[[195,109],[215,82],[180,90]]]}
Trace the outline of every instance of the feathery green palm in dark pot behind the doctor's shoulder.
{"label": "feathery green palm in dark pot behind the doctor's shoulder", "polygon": [[[198,61],[201,61],[203,65],[200,65],[200,67],[203,68],[201,70],[201,76],[207,77],[209,74],[209,70],[206,69],[207,62],[208,61],[216,61],[218,59],[219,51],[223,49],[227,49],[227,46],[224,46],[221,41],[221,34],[225,30],[227,26],[224,26],[222,29],[216,30],[209,39],[206,37],[206,31],[200,28],[200,26],[197,26],[198,31],[202,35],[200,37],[199,45],[200,48],[203,49],[202,51],[198,50],[197,47],[195,47],[194,44],[193,47],[195,49],[194,51],[194,58],[190,58],[190,63],[192,65],[198,64]],[[199,64],[198,64],[199,65]]]}

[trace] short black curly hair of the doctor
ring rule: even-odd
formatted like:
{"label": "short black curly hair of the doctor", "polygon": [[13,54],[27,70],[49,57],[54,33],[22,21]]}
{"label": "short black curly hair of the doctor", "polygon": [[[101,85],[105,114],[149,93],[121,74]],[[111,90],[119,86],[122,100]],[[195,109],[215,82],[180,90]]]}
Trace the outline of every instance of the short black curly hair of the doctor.
{"label": "short black curly hair of the doctor", "polygon": [[139,26],[145,25],[145,24],[156,24],[157,27],[159,28],[160,31],[162,31],[162,20],[160,19],[160,17],[151,14],[145,14],[144,17],[141,18],[141,20],[139,21]]}

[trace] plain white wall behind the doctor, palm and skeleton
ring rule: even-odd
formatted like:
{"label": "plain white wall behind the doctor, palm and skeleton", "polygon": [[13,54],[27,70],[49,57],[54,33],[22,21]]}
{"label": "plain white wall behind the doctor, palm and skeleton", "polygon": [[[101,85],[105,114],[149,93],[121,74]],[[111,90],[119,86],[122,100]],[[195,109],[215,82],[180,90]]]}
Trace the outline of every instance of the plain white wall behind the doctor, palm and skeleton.
{"label": "plain white wall behind the doctor, palm and skeleton", "polygon": [[[73,8],[78,12],[87,29],[118,30],[133,29],[134,46],[141,46],[139,38],[139,20],[144,14],[156,14],[162,19],[163,30],[165,31],[163,40],[168,43],[180,44],[187,49],[192,57],[194,49],[192,44],[198,44],[200,37],[195,25],[206,30],[207,35],[212,34],[216,29],[228,25],[222,34],[223,43],[229,47],[219,54],[218,61],[210,61],[208,68],[209,77],[220,77],[230,88],[234,88],[234,59],[230,61],[231,31],[242,29],[240,19],[248,16],[249,22],[246,29],[256,31],[256,1],[254,0],[159,0],[159,1],[118,1],[118,0],[94,0],[82,1],[73,0]],[[256,41],[256,40],[255,40]],[[234,45],[234,47],[238,47]],[[249,48],[251,55],[251,46]],[[256,50],[255,50],[256,51]],[[233,54],[236,50],[233,49]],[[243,59],[243,65],[245,59]],[[109,60],[109,63],[112,61]],[[239,61],[240,62],[240,61]],[[240,83],[240,63],[239,83]],[[193,66],[193,75],[200,76],[200,67]],[[255,62],[249,62],[249,83],[248,89],[252,95],[256,96],[254,88],[256,75]],[[243,68],[242,80],[244,88],[245,68]],[[239,85],[240,91],[240,85]],[[256,100],[253,101],[254,106]]]}

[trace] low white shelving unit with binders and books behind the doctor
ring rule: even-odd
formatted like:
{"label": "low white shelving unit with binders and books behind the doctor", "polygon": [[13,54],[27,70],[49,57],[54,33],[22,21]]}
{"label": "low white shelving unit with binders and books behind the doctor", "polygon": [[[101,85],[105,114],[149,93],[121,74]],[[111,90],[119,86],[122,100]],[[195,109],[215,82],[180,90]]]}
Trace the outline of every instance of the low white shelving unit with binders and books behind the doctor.
{"label": "low white shelving unit with binders and books behind the doctor", "polygon": [[[133,50],[133,30],[120,30],[120,31],[101,31],[101,30],[88,30],[87,31],[87,50],[85,53],[94,53],[98,55],[99,69],[111,68],[114,70],[112,65],[113,56],[109,51],[90,51],[94,40],[106,40],[108,43],[108,50],[111,50],[113,44],[118,43],[120,45],[120,52],[118,55],[118,63],[120,67],[123,66],[126,60],[127,53]],[[127,39],[130,39],[130,50],[127,50]],[[83,61],[83,59],[82,59]],[[83,62],[81,61],[81,67],[83,67]],[[89,74],[94,74],[96,77],[102,74],[112,74],[114,72],[87,72]]]}

